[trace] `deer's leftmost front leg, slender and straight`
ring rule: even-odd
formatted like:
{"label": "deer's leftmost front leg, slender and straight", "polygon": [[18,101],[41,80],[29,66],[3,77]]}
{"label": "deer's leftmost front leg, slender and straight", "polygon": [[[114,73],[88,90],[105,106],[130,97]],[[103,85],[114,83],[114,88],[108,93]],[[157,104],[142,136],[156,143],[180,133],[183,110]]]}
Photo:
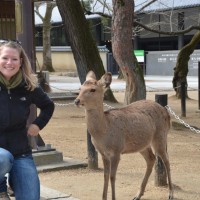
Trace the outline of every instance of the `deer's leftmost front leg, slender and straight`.
{"label": "deer's leftmost front leg, slender and straight", "polygon": [[103,200],[107,200],[108,193],[108,182],[110,176],[110,160],[102,156],[103,166],[104,166],[104,186],[103,186]]}

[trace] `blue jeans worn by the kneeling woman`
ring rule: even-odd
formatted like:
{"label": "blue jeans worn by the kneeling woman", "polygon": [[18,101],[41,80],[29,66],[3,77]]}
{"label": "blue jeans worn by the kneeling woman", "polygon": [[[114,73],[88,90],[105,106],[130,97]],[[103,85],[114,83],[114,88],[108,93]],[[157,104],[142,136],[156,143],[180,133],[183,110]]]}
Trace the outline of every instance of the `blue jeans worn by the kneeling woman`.
{"label": "blue jeans worn by the kneeling woman", "polygon": [[31,154],[14,158],[12,154],[0,148],[0,192],[7,191],[7,177],[16,200],[39,200],[40,181]]}

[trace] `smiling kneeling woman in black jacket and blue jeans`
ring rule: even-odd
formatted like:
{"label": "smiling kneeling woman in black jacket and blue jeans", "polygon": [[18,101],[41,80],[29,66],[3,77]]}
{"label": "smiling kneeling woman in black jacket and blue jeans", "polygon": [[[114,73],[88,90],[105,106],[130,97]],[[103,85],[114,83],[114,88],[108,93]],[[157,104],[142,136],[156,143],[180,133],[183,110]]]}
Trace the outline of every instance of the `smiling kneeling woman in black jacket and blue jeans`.
{"label": "smiling kneeling woman in black jacket and blue jeans", "polygon": [[[30,105],[40,109],[27,123]],[[37,136],[54,111],[54,103],[38,86],[22,46],[0,40],[0,200],[7,195],[7,178],[16,200],[39,200],[40,182],[28,136]]]}

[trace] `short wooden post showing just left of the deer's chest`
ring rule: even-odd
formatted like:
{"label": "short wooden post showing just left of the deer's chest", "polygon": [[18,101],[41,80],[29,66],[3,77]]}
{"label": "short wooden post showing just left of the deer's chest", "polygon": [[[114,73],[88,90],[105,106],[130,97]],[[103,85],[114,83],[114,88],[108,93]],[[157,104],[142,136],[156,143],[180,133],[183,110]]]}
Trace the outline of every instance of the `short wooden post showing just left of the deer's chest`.
{"label": "short wooden post showing just left of the deer's chest", "polygon": [[98,169],[98,153],[91,142],[91,135],[87,131],[88,168]]}

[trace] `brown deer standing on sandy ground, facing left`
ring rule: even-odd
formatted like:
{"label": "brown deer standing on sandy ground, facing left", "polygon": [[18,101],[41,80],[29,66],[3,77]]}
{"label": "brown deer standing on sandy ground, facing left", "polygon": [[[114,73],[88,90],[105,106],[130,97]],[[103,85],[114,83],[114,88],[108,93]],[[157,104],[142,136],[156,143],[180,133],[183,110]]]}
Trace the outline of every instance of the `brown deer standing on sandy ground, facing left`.
{"label": "brown deer standing on sandy ground, facing left", "polygon": [[104,92],[112,82],[106,72],[96,80],[93,71],[86,75],[79,94],[74,100],[77,107],[84,106],[88,132],[95,149],[101,154],[104,168],[102,200],[107,200],[109,179],[112,200],[116,200],[115,181],[121,154],[139,152],[146,161],[145,176],[133,200],[140,200],[151,175],[156,156],[166,169],[169,196],[173,199],[170,163],[167,153],[167,135],[170,115],[167,109],[151,100],[138,100],[120,108],[104,111]]}

